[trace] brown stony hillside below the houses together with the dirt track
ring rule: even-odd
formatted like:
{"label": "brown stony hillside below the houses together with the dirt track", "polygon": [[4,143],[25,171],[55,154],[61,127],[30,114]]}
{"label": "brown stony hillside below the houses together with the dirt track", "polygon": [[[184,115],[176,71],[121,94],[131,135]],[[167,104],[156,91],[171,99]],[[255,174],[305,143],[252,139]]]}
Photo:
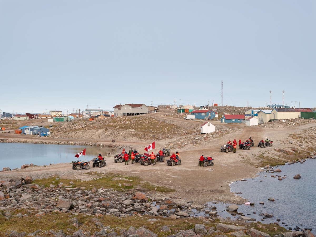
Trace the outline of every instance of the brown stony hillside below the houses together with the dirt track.
{"label": "brown stony hillside below the houses together with the dirt track", "polygon": [[[180,196],[185,200],[198,200],[199,203],[206,203],[210,200],[226,203],[244,202],[241,197],[234,196],[230,192],[229,184],[231,182],[254,177],[266,164],[306,158],[305,155],[313,153],[312,144],[316,142],[316,123],[312,120],[307,123],[305,120],[304,122],[298,120],[299,122],[294,123],[293,127],[293,124],[290,123],[285,123],[288,127],[246,127],[245,124],[222,124],[211,121],[216,126],[216,131],[205,136],[199,134],[200,124],[203,121],[189,122],[163,115],[164,113],[156,113],[146,116],[111,118],[106,121],[72,122],[53,128],[50,138],[35,140],[37,142],[46,140],[91,142],[93,139],[105,145],[113,145],[110,140],[115,139],[115,145],[119,147],[133,147],[143,152],[144,147],[156,141],[156,151],[162,147],[168,147],[171,149],[171,153],[179,151],[182,165],[173,167],[167,166],[164,162],[154,166],[143,166],[139,163],[127,166],[124,163],[114,163],[111,156],[106,157],[106,167],[91,168],[91,170],[139,176],[152,184],[176,189],[176,192],[170,194],[172,196]],[[26,139],[34,139],[32,135],[0,133],[1,138],[10,140],[21,139],[21,136]],[[245,141],[250,136],[255,142],[255,147],[250,150],[237,149],[237,153],[220,153],[220,146],[226,144],[228,140]],[[259,140],[266,138],[273,140],[273,147],[256,146]],[[293,146],[297,150],[293,155],[277,152],[279,148],[292,151]],[[198,158],[202,154],[213,157],[214,166],[198,167]],[[49,165],[1,172],[0,180],[23,176],[25,173],[40,177],[66,174],[78,177],[84,172],[73,171],[69,164]]]}

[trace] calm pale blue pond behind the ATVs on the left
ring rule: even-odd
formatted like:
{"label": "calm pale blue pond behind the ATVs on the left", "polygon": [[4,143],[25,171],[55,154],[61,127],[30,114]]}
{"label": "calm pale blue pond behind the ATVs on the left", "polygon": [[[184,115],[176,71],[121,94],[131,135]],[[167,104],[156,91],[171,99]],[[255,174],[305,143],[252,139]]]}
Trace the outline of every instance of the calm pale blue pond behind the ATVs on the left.
{"label": "calm pale blue pond behind the ATVs on the left", "polygon": [[[75,155],[85,148],[87,148],[86,155],[76,158]],[[114,152],[115,149],[109,147],[1,142],[0,151],[1,167],[10,167],[12,170],[31,163],[34,165],[49,165],[68,163],[77,159],[92,160],[100,153],[105,157],[106,153]]]}

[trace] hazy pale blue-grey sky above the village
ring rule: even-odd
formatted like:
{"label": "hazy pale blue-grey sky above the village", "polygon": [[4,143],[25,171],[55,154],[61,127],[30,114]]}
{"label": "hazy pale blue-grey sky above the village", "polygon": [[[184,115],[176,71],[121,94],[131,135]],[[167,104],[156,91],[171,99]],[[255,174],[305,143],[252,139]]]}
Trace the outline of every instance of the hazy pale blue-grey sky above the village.
{"label": "hazy pale blue-grey sky above the village", "polygon": [[315,42],[309,0],[0,0],[0,109],[313,108]]}

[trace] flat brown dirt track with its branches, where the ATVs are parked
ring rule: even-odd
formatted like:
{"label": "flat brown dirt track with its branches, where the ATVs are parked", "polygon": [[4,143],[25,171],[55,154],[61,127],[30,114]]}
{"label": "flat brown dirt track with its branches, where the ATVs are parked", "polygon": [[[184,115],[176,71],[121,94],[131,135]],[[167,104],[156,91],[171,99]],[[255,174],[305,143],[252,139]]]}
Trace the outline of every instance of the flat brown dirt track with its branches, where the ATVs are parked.
{"label": "flat brown dirt track with its branches, where the ATVs are parked", "polygon": [[[157,117],[161,114],[149,114],[145,116]],[[182,123],[195,123],[197,125],[201,122],[187,121],[183,119],[164,117],[173,121]],[[180,156],[182,159],[181,166],[167,166],[166,162],[157,163],[156,165],[143,166],[139,163],[131,165],[124,165],[124,163],[114,163],[113,157],[106,158],[106,167],[92,168],[91,171],[104,171],[113,173],[123,173],[126,175],[139,176],[151,184],[160,186],[167,186],[176,189],[173,194],[157,196],[179,196],[185,200],[195,200],[196,203],[206,203],[209,201],[221,201],[225,203],[244,203],[239,196],[234,196],[229,189],[229,184],[240,180],[242,178],[255,177],[255,174],[261,171],[261,166],[250,165],[249,163],[258,164],[258,159],[255,155],[262,154],[263,152],[269,152],[270,154],[276,154],[274,148],[284,148],[284,145],[278,141],[286,140],[288,135],[294,131],[301,131],[310,127],[315,127],[316,124],[306,124],[287,129],[271,129],[271,128],[258,128],[258,127],[246,127],[245,124],[222,124],[221,122],[211,122],[215,126],[224,127],[238,127],[237,131],[231,132],[220,136],[217,139],[210,140],[207,145],[189,148],[185,151],[181,151]],[[242,141],[252,137],[255,141],[255,147],[250,150],[239,150],[237,153],[220,153],[220,146],[226,144],[228,140]],[[23,136],[26,138],[27,136]],[[35,139],[34,136],[29,135],[30,139]],[[274,141],[273,147],[257,148],[256,142],[268,137]],[[0,138],[17,138],[13,133],[1,133]],[[36,138],[40,140],[54,140],[52,138]],[[60,140],[60,139],[58,139]],[[68,141],[71,141],[67,139]],[[76,139],[75,141],[78,141]],[[82,140],[85,141],[85,140]],[[89,140],[87,140],[89,141]],[[110,141],[99,141],[103,143],[110,143]],[[129,145],[131,147],[147,146],[147,143],[142,142],[128,142],[128,141],[116,141],[116,145]],[[157,141],[157,147],[160,147]],[[158,151],[156,151],[158,152]],[[175,151],[172,151],[175,153]],[[214,159],[214,166],[198,167],[198,158],[204,154],[204,156],[211,156]],[[278,153],[279,154],[279,153]],[[289,156],[288,156],[289,159]],[[293,158],[294,159],[294,158]],[[33,173],[34,172],[34,173]],[[85,171],[73,171],[69,164],[50,165],[48,167],[41,168],[27,168],[25,170],[16,172],[1,172],[0,178],[7,175],[24,176],[26,173],[36,175],[35,173],[54,173],[55,175],[72,175],[76,176]]]}

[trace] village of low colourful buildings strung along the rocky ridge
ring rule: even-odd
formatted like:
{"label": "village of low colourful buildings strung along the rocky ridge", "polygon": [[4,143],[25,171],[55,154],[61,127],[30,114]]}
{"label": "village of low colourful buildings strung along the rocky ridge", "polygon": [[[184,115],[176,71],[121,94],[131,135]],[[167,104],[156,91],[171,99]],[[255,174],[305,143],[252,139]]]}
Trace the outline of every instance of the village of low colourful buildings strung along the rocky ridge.
{"label": "village of low colourful buildings strung along the rocky ridge", "polygon": [[[263,107],[262,109],[247,109],[244,114],[227,114],[223,113],[218,117],[217,104],[213,104],[212,109],[210,106],[192,106],[192,105],[158,105],[147,106],[145,104],[118,104],[113,107],[112,111],[103,109],[85,109],[79,113],[69,113],[66,114],[66,110],[50,110],[49,114],[46,113],[25,113],[25,114],[12,114],[3,112],[1,114],[2,120],[37,120],[48,118],[48,122],[71,122],[77,119],[89,119],[89,121],[97,119],[107,119],[109,117],[117,116],[135,116],[143,115],[148,113],[158,112],[177,112],[184,113],[187,117],[185,119],[190,120],[221,120],[223,123],[245,123],[246,126],[256,126],[258,124],[285,120],[285,119],[295,119],[295,118],[305,118],[314,119],[316,117],[316,111],[309,108],[291,108],[284,105],[269,105]],[[47,121],[47,120],[46,120]],[[209,122],[205,122],[201,125],[211,126]],[[50,125],[52,126],[52,125]],[[214,126],[211,126],[214,127]],[[5,128],[2,128],[5,129]],[[207,129],[207,133],[213,132],[215,129]],[[202,130],[201,130],[202,131]],[[17,134],[28,134],[28,135],[39,135],[48,136],[50,135],[49,128],[44,128],[42,126],[23,126],[18,130],[15,130]]]}

